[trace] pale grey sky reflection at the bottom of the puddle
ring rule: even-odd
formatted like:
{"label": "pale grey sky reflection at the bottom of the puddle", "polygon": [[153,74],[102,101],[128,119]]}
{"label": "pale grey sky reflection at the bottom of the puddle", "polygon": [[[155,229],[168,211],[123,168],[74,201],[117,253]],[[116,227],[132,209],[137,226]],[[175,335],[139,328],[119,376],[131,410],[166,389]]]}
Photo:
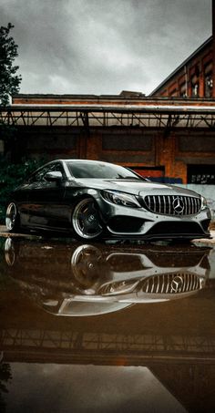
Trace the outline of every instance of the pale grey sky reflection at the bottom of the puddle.
{"label": "pale grey sky reflection at the bottom of the puddle", "polygon": [[182,413],[147,367],[12,363],[6,398],[9,413]]}

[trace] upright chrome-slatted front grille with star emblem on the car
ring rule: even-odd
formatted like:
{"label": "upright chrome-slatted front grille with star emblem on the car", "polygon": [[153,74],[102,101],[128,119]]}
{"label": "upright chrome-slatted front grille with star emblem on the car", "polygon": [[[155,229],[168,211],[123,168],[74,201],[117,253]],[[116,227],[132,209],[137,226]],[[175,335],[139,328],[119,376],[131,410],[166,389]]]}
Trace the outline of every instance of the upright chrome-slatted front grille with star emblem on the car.
{"label": "upright chrome-slatted front grille with star emblem on the car", "polygon": [[192,215],[200,212],[200,198],[182,195],[148,195],[144,198],[147,209],[164,215]]}

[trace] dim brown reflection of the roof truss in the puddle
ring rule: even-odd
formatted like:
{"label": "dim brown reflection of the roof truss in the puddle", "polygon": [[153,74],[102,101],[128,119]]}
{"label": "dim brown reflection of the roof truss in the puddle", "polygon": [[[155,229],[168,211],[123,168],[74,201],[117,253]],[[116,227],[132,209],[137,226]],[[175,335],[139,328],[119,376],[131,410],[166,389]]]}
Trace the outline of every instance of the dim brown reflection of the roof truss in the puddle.
{"label": "dim brown reflection of the roof truss in the puddle", "polygon": [[215,336],[162,336],[8,328],[0,332],[6,361],[142,365],[154,362],[215,364]]}

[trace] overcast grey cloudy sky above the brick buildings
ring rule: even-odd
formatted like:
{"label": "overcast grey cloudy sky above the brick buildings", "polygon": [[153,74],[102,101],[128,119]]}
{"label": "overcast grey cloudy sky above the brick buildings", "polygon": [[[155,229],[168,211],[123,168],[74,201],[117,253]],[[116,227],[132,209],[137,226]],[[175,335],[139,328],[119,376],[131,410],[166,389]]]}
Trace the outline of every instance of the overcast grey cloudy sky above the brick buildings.
{"label": "overcast grey cloudy sky above the brick buildings", "polygon": [[208,37],[211,0],[0,0],[21,93],[150,93]]}

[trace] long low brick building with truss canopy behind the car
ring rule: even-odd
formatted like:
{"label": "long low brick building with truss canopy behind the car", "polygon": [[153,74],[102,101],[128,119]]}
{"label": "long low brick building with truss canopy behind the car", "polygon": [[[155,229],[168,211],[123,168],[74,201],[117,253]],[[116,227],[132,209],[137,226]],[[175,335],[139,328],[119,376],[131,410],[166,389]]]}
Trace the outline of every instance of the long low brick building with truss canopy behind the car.
{"label": "long low brick building with truss canopy behind the car", "polygon": [[141,95],[17,95],[13,151],[113,161],[160,181],[214,183],[215,102]]}

